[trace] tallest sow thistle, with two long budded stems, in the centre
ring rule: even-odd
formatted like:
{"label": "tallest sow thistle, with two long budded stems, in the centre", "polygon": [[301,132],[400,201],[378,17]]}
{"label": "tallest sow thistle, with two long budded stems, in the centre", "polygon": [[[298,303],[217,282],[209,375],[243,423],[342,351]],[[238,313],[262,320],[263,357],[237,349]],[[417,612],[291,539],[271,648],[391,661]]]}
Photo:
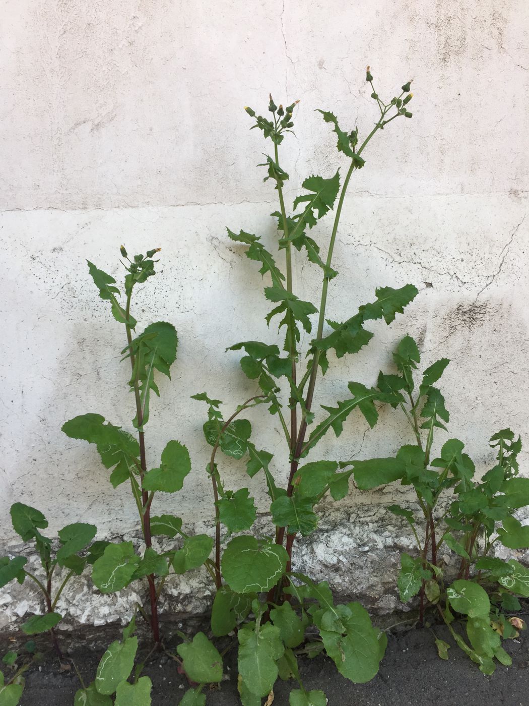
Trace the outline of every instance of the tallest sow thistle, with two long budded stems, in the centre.
{"label": "tallest sow thistle, with two long budded stems, in the centre", "polygon": [[[329,367],[327,354],[334,350],[336,357],[341,358],[358,352],[373,336],[364,328],[366,323],[384,319],[390,324],[396,313],[403,313],[404,307],[418,293],[413,285],[401,289],[382,287],[376,290],[375,300],[360,306],[351,318],[343,322],[327,321],[327,327],[325,325],[329,282],[338,274],[332,267],[332,258],[349,181],[356,170],[363,168],[363,153],[372,137],[394,119],[411,117],[407,109],[411,100],[410,82],[402,86],[398,97],[385,103],[372,86],[369,69],[366,78],[379,109],[375,126],[361,141],[357,128],[343,131],[334,114],[319,111],[324,121],[332,125],[338,138],[337,149],[347,158],[346,176],[343,182],[339,171],[332,177],[308,177],[303,181],[305,191],[295,198],[292,210],[286,207],[284,184],[288,174],[280,161],[279,147],[292,131],[296,102],[286,108],[278,107],[270,96],[268,117],[257,115],[250,107],[245,109],[255,120],[253,128],[262,131],[265,139],[269,138],[273,144],[272,155],[267,155],[265,163],[260,166],[267,170],[265,181],[272,181],[278,196],[279,209],[272,213],[272,217],[279,231],[279,254],[267,250],[257,235],[243,230],[236,233],[230,229],[228,234],[234,243],[245,249],[250,260],[260,264],[259,271],[267,278],[265,297],[272,304],[266,321],[270,325],[279,318],[281,339],[279,345],[276,342],[243,341],[229,348],[243,351],[241,369],[245,376],[255,381],[257,390],[227,419],[221,412],[221,400],[209,397],[207,393],[194,396],[207,404],[204,433],[207,443],[212,446],[207,467],[212,481],[216,522],[216,594],[211,629],[217,638],[236,630],[238,689],[244,706],[260,705],[262,698],[272,692],[278,676],[298,681],[299,688],[291,691],[291,706],[324,705],[326,698],[322,691],[308,693],[303,688],[296,655],[303,652],[314,657],[325,652],[343,676],[354,682],[365,682],[377,674],[387,642],[385,634],[372,626],[363,606],[357,602],[335,605],[327,582],[316,583],[293,571],[291,566],[296,537],[308,536],[317,527],[315,505],[327,493],[334,500],[346,496],[348,480],[353,473],[351,462],[305,462],[305,457],[313,452],[327,431],[332,429],[339,436],[354,409],[358,409],[372,427],[378,417],[375,402],[394,399],[391,390],[387,392],[350,382],[350,396],[337,402],[336,407],[322,405],[324,415],[317,420],[313,402],[317,379]],[[334,209],[335,203],[334,222],[325,255],[310,231]],[[302,252],[319,268],[322,276],[319,306],[300,299],[293,291],[293,258]],[[278,258],[281,263],[276,262]],[[302,350],[302,333],[312,333],[311,316],[315,314],[315,335],[308,349]],[[284,405],[285,399],[288,399],[288,405]],[[281,427],[285,441],[281,457],[274,457],[252,441],[250,421],[241,414],[257,405],[266,405]],[[218,466],[219,450],[235,459],[244,458],[248,476],[262,473],[270,499],[271,536],[240,534],[230,538],[231,534],[248,532],[253,527],[256,508],[247,487],[237,490],[226,487]],[[279,484],[274,480],[272,467],[279,471]],[[224,539],[229,539],[224,552],[221,549],[222,527]],[[302,647],[310,626],[313,626],[311,640]],[[191,649],[188,646],[189,652]],[[217,655],[215,657],[217,664]],[[183,666],[186,671],[188,662],[189,658],[185,657]],[[218,674],[203,676],[207,676],[203,681],[217,681],[218,678]]]}

